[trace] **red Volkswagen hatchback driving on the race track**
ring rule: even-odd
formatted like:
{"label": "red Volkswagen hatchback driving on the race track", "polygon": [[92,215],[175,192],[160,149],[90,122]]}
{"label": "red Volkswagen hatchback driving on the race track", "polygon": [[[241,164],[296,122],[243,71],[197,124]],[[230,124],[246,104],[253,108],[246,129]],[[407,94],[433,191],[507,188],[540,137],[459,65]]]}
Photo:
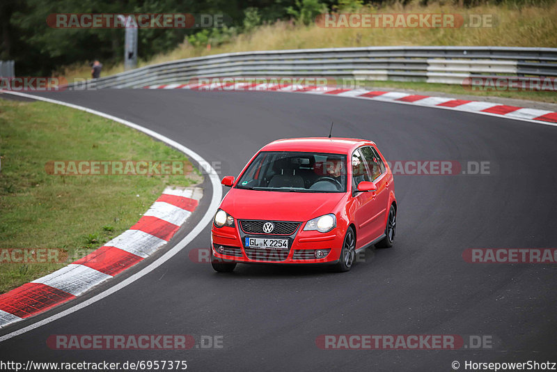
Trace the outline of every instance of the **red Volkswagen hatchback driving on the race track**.
{"label": "red Volkswagen hatchback driving on the race track", "polygon": [[280,139],[222,184],[232,189],[211,229],[218,272],[239,262],[327,263],[348,271],[357,251],[393,245],[393,173],[372,141]]}

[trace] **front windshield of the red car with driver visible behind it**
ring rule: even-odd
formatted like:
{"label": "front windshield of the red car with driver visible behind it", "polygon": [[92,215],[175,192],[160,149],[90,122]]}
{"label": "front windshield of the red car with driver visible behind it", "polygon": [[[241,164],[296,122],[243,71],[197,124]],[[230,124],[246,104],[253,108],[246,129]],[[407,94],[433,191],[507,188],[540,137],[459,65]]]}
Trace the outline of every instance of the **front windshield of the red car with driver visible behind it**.
{"label": "front windshield of the red car with driver visible behind it", "polygon": [[237,183],[239,189],[346,192],[346,155],[262,151]]}

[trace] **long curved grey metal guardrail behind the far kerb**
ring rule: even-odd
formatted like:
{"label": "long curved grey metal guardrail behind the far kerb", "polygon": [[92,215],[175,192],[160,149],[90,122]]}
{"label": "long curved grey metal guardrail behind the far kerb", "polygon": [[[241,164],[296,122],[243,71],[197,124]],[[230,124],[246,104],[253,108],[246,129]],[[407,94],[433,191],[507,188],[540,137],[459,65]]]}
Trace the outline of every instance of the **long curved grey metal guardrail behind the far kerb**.
{"label": "long curved grey metal guardrail behind the far kerb", "polygon": [[358,47],[239,52],[148,65],[96,88],[187,83],[194,77],[311,76],[462,84],[466,77],[557,77],[557,48]]}

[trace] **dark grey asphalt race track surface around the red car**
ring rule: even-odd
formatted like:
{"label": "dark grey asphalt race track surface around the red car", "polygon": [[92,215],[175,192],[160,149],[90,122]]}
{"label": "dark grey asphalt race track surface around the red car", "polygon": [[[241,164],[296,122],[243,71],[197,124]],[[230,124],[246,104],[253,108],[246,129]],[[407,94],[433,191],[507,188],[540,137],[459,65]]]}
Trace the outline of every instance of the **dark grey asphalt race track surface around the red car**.
{"label": "dark grey asphalt race track surface around the red car", "polygon": [[[326,137],[331,121],[335,137],[372,139],[388,160],[485,161],[490,168],[484,175],[395,175],[395,246],[367,249],[365,262],[345,274],[275,265],[238,265],[232,274],[217,274],[188,258],[190,249],[209,247],[207,226],[180,254],[133,284],[3,341],[4,359],[173,359],[187,360],[188,371],[452,371],[455,360],[461,370],[466,360],[557,362],[557,266],[462,258],[467,248],[557,246],[556,127],[292,93],[43,95],[155,130],[217,162],[221,176],[237,176],[274,139]],[[46,345],[52,334],[221,335],[223,348],[52,350]],[[494,343],[480,350],[321,350],[315,339],[322,334],[487,335]]]}

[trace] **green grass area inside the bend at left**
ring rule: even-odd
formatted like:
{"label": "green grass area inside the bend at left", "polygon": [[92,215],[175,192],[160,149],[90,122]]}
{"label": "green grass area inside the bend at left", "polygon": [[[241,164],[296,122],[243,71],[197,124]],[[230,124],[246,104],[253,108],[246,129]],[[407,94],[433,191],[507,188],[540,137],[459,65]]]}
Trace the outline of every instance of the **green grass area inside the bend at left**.
{"label": "green grass area inside the bend at left", "polygon": [[[0,100],[0,249],[56,248],[84,256],[130,228],[167,185],[186,176],[52,176],[52,160],[183,160],[122,124],[45,102]],[[0,263],[0,293],[65,263]]]}

